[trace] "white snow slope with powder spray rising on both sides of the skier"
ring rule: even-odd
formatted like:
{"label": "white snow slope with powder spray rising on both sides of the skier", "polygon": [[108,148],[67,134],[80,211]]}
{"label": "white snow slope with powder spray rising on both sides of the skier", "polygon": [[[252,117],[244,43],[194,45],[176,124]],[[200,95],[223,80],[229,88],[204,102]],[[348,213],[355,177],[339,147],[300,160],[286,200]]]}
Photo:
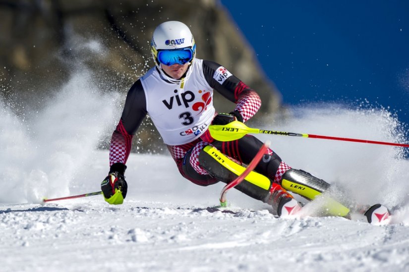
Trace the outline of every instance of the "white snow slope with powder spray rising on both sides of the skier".
{"label": "white snow slope with powder spray rising on both sides of the skier", "polygon": [[[223,184],[184,180],[167,154],[131,154],[123,205],[102,196],[41,204],[42,197],[99,191],[107,175],[108,151],[96,146],[115,127],[123,98],[91,82],[86,72],[74,74],[34,112],[16,114],[0,99],[1,271],[409,271],[409,162],[390,146],[260,136],[292,167],[343,188],[340,199],[387,205],[394,213],[387,226],[276,218],[235,190],[218,211]],[[249,125],[408,143],[384,109],[291,110],[284,121]]]}

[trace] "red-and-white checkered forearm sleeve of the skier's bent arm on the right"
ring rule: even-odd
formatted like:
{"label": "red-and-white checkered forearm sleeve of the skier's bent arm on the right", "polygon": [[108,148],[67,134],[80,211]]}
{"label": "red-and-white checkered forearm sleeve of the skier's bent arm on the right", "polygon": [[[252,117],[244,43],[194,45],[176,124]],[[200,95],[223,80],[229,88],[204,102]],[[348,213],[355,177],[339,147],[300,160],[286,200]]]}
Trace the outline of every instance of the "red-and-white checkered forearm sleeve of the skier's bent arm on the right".
{"label": "red-and-white checkered forearm sleeve of the skier's bent arm on the right", "polygon": [[240,112],[243,122],[250,119],[261,107],[259,95],[242,81],[234,89],[234,99],[237,104],[234,110]]}

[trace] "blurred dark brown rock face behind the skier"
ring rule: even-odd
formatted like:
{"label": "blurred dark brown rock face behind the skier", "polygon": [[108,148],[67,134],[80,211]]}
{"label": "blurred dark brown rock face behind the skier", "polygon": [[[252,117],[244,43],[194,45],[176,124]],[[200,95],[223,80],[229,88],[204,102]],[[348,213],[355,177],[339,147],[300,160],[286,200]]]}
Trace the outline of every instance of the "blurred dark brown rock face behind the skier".
{"label": "blurred dark brown rock face behind the skier", "polygon": [[[41,99],[79,67],[91,71],[106,91],[126,93],[154,65],[149,43],[155,27],[178,20],[190,27],[198,58],[221,63],[260,94],[258,116],[281,104],[217,0],[2,0],[0,18],[0,92],[5,99],[17,92],[20,99],[34,93]],[[218,111],[234,108],[218,95],[215,106]]]}

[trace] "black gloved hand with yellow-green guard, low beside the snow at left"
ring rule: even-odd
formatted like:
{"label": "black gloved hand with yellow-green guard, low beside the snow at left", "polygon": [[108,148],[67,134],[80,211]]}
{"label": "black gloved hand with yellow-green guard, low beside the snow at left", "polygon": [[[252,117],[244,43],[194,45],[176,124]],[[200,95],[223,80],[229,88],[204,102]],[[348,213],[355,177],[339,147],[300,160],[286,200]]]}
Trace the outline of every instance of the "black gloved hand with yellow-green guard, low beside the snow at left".
{"label": "black gloved hand with yellow-green guard, low beside the snow at left", "polygon": [[114,163],[111,166],[109,175],[101,182],[101,190],[104,194],[104,199],[109,204],[122,204],[128,191],[123,173],[126,166],[122,163]]}

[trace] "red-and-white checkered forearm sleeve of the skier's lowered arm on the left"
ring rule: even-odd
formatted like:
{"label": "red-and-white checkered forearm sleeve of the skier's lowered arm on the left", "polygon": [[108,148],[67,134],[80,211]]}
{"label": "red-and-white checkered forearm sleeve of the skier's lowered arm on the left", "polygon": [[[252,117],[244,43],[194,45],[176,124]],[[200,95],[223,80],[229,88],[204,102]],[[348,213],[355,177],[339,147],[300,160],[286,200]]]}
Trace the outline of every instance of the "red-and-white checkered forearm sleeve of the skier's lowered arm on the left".
{"label": "red-and-white checkered forearm sleeve of the skier's lowered arm on the left", "polygon": [[133,135],[126,132],[121,119],[111,138],[110,166],[114,163],[126,163],[131,151],[132,138]]}

